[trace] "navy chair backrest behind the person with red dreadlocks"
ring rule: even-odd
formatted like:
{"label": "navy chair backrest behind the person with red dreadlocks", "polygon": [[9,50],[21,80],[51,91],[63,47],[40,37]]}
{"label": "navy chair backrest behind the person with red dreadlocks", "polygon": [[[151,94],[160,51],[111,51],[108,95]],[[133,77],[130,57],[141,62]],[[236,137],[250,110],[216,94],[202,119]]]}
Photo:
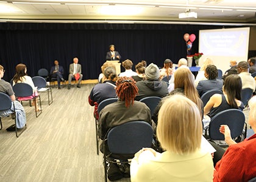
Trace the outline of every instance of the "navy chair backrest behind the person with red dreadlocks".
{"label": "navy chair backrest behind the person with red dreadlocks", "polygon": [[130,121],[110,129],[108,149],[112,153],[133,154],[143,147],[151,147],[153,129],[145,121]]}

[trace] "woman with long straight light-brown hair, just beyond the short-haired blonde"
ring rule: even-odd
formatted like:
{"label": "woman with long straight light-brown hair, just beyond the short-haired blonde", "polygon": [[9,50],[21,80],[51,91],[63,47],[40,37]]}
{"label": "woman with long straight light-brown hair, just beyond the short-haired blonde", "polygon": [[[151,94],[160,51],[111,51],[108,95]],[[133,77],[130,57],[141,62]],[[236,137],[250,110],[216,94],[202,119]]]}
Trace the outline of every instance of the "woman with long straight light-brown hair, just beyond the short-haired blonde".
{"label": "woman with long straight light-brown hair, just beyond the short-haired blonde", "polygon": [[160,110],[160,107],[162,106],[162,103],[165,101],[165,99],[169,98],[170,95],[174,95],[176,93],[181,93],[187,96],[187,98],[191,99],[191,101],[193,101],[200,110],[201,117],[204,115],[203,103],[199,98],[196,87],[194,86],[194,75],[189,69],[182,67],[177,69],[175,72],[174,90],[172,90],[172,92],[170,92],[168,96],[163,98],[155,109],[154,115],[152,116],[152,120],[155,124],[157,124],[158,122],[158,112]]}

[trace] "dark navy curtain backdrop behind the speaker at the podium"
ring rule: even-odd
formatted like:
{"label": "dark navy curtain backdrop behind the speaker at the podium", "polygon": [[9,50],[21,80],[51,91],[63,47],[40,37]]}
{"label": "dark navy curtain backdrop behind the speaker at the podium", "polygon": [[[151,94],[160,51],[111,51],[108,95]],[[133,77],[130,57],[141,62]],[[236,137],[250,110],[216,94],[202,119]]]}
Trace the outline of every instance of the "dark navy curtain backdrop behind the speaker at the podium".
{"label": "dark navy curtain backdrop behind the speaker at the podium", "polygon": [[67,79],[69,64],[77,57],[84,79],[96,79],[110,44],[115,44],[121,61],[133,61],[133,69],[141,60],[162,67],[166,58],[177,63],[186,57],[185,33],[196,35],[193,54],[198,52],[199,30],[221,28],[213,25],[0,23],[0,64],[6,70],[4,79],[9,81],[15,74],[16,64],[26,64],[27,73],[35,76],[41,68],[50,70],[57,59]]}

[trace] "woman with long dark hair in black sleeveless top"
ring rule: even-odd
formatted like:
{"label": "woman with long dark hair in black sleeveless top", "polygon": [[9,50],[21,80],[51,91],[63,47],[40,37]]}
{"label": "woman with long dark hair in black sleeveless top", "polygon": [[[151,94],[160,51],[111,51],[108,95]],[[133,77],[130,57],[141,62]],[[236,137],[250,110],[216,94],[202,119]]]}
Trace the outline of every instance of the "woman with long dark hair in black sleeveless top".
{"label": "woman with long dark hair in black sleeveless top", "polygon": [[215,93],[204,107],[204,114],[212,118],[226,109],[244,109],[241,102],[242,82],[238,75],[229,75],[224,81],[223,94]]}

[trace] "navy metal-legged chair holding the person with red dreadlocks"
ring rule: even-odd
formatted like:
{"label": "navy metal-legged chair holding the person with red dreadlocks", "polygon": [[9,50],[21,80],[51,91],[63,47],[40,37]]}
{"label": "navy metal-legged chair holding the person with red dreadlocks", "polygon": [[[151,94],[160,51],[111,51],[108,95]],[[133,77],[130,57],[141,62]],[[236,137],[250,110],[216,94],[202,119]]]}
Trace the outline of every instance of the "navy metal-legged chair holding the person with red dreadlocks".
{"label": "navy metal-legged chair holding the person with red dreadlocks", "polygon": [[[129,163],[129,159],[143,147],[151,147],[153,129],[145,121],[130,121],[108,130],[103,142],[104,174],[107,181],[109,163]],[[107,146],[106,146],[107,143]],[[108,147],[108,150],[107,149]]]}

